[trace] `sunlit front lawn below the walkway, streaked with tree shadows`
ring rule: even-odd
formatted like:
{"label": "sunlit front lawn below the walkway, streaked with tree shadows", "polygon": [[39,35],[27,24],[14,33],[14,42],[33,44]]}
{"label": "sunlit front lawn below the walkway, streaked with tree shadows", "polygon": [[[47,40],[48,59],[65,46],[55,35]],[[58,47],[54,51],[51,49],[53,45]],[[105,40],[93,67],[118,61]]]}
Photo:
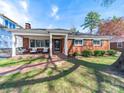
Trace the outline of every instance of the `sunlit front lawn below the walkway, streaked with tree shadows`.
{"label": "sunlit front lawn below the walkway, streaked with tree shadows", "polygon": [[0,76],[0,93],[124,93],[124,79],[106,72],[116,59],[83,57],[57,67]]}

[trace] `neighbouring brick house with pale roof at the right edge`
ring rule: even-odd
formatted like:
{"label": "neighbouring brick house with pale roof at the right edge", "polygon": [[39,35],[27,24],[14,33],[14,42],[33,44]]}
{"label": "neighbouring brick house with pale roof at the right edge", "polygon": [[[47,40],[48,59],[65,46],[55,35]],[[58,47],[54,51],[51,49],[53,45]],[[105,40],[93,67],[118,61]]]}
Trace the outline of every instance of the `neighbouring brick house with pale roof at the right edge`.
{"label": "neighbouring brick house with pale roof at the right edge", "polygon": [[124,49],[124,36],[113,36],[110,46],[111,49],[122,51]]}

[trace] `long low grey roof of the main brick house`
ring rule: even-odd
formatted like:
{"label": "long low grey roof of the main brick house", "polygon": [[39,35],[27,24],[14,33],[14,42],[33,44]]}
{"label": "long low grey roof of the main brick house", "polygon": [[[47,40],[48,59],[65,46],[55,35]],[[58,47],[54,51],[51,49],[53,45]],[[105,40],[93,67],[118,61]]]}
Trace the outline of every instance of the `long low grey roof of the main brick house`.
{"label": "long low grey roof of the main brick house", "polygon": [[21,34],[49,34],[49,33],[59,33],[59,34],[68,34],[70,39],[73,38],[83,38],[83,39],[110,39],[110,36],[100,36],[100,35],[91,35],[91,34],[73,34],[71,30],[69,29],[6,29],[7,31],[10,31],[12,33],[21,33]]}

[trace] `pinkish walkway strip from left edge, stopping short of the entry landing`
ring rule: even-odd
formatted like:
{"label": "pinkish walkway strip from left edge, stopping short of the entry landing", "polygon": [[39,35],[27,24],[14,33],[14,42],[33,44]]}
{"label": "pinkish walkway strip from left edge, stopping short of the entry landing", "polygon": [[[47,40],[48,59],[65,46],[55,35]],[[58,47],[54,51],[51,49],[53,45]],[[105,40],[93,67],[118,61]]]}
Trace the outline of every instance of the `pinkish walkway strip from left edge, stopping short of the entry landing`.
{"label": "pinkish walkway strip from left edge, stopping short of the entry landing", "polygon": [[0,67],[0,76],[8,75],[8,74],[14,74],[17,72],[24,73],[26,71],[29,71],[33,67],[41,68],[48,65],[56,65],[58,63],[65,62],[64,60],[56,60],[56,61],[50,61],[50,62],[39,62],[34,64],[26,64],[21,66],[8,66],[8,67]]}

